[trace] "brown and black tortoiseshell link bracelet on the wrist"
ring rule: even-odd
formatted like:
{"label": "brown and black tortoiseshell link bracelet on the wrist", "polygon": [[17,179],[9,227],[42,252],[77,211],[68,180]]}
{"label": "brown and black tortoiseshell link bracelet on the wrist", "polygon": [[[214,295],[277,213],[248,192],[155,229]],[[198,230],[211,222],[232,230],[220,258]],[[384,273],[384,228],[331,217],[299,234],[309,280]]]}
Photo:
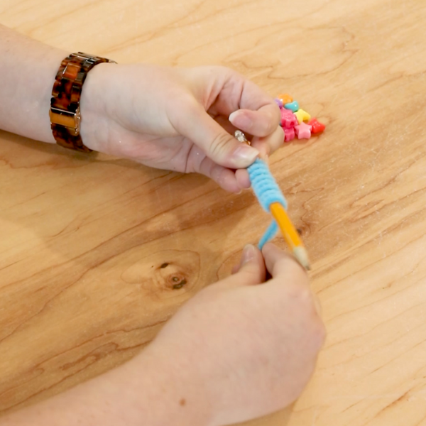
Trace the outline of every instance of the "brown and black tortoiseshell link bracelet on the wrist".
{"label": "brown and black tortoiseshell link bracelet on the wrist", "polygon": [[50,127],[58,145],[84,153],[92,152],[84,146],[80,136],[80,97],[87,72],[102,62],[114,60],[87,53],[72,53],[62,60],[53,84],[50,99]]}

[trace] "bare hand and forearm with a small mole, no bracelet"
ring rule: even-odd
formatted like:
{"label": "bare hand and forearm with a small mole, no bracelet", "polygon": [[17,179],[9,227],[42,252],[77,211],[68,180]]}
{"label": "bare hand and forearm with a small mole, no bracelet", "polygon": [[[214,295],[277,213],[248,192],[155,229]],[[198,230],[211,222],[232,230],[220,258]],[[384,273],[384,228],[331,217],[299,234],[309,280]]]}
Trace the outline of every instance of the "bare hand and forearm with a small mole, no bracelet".
{"label": "bare hand and forearm with a small mole, no bracelet", "polygon": [[1,425],[222,426],[292,403],[324,326],[302,267],[272,244],[263,256],[248,246],[236,273],[192,297],[141,354]]}

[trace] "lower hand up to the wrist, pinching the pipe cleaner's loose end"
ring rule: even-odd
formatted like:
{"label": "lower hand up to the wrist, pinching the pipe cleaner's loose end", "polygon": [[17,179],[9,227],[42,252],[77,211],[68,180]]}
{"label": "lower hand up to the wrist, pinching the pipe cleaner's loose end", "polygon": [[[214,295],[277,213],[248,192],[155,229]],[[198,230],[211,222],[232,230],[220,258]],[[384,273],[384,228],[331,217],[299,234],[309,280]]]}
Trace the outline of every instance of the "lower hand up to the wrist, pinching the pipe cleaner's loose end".
{"label": "lower hand up to the wrist, pinching the pipe cleaner's loose end", "polygon": [[[187,302],[141,354],[158,369],[173,366],[168,375],[185,383],[174,387],[176,404],[182,398],[188,410],[208,410],[209,426],[292,403],[324,342],[305,271],[272,244],[263,256],[266,268],[260,251],[246,247],[238,272]],[[266,269],[272,278],[264,283]]]}

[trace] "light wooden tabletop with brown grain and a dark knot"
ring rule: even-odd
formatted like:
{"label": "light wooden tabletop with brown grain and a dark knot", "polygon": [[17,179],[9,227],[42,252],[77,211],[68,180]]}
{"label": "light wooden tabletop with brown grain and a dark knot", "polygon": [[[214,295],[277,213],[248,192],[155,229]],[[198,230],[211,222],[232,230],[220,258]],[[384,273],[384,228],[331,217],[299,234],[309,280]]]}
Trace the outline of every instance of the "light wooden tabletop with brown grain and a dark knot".
{"label": "light wooden tabletop with brown grain and a dark knot", "polygon": [[[327,123],[271,158],[327,344],[302,398],[251,425],[426,425],[425,1],[2,0],[0,22],[119,62],[226,65]],[[269,220],[200,176],[0,138],[0,413],[131,358]]]}

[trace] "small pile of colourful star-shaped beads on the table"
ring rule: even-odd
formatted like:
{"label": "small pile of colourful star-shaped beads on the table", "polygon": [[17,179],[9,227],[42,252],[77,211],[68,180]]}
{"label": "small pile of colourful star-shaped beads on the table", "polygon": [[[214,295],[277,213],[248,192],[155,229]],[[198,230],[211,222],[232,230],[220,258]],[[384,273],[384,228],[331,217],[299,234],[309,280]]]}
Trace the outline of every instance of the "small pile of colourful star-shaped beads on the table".
{"label": "small pile of colourful star-shaped beads on the table", "polygon": [[309,139],[312,133],[324,131],[324,124],[317,119],[311,119],[310,114],[300,109],[299,103],[294,101],[290,94],[280,94],[275,102],[280,107],[280,126],[284,131],[285,142],[292,141],[295,136],[298,139]]}

